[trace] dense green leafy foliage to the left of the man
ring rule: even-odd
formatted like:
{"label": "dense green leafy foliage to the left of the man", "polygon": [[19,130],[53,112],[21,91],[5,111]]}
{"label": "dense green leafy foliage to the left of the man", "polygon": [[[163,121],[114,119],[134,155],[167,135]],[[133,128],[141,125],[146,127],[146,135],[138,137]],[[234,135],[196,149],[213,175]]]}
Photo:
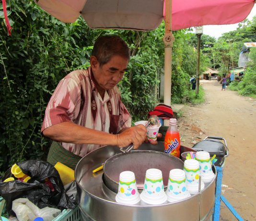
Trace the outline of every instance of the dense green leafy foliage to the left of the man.
{"label": "dense green leafy foliage to the left of the man", "polygon": [[0,18],[1,171],[16,161],[45,158],[49,142],[40,130],[47,102],[62,77],[86,66],[93,44],[82,34],[89,30],[82,20],[64,24],[21,0],[10,1],[8,11],[12,36]]}

